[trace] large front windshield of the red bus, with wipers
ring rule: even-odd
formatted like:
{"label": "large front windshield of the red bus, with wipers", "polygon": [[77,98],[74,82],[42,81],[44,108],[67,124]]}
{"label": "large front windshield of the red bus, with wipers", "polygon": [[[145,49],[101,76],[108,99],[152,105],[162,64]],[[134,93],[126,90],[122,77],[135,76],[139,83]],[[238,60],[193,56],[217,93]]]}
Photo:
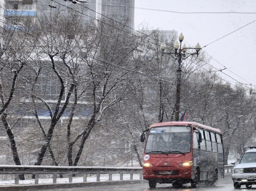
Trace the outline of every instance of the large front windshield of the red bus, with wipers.
{"label": "large front windshield of the red bus, with wipers", "polygon": [[191,150],[191,127],[152,127],[148,134],[145,153],[189,153]]}

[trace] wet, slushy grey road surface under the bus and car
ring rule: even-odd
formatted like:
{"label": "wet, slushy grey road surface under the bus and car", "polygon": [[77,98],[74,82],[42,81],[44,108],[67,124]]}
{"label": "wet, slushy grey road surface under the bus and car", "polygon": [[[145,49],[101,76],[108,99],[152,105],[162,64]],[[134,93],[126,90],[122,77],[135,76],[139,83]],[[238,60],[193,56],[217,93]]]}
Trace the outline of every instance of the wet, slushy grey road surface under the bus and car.
{"label": "wet, slushy grey road surface under the bus and car", "polygon": [[[150,189],[148,183],[140,183],[140,184],[127,184],[127,185],[105,185],[105,186],[93,186],[93,187],[82,187],[82,188],[59,188],[59,189],[47,189],[44,191],[234,191],[233,183],[231,180],[231,176],[225,176],[224,179],[218,180],[216,186],[207,187],[206,184],[200,185],[198,188],[191,188],[188,184],[187,186],[183,186],[181,189],[174,189],[170,184],[157,184],[156,188]],[[242,186],[240,191],[246,190],[255,190],[256,185],[253,185],[253,188],[246,189],[245,186]]]}

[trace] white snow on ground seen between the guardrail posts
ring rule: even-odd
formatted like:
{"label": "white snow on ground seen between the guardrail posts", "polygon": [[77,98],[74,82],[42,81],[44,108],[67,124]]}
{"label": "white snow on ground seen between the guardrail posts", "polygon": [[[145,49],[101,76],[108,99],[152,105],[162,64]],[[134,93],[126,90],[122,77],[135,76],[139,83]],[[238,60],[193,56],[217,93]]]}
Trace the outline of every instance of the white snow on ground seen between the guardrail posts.
{"label": "white snow on ground seen between the guardrail posts", "polygon": [[[124,174],[123,179],[124,180],[130,180],[130,174]],[[134,180],[139,180],[140,175],[139,174],[133,174],[133,179]],[[112,180],[120,180],[120,175],[119,174],[113,174],[112,175]],[[101,174],[100,181],[108,181],[108,174]],[[56,183],[68,183],[68,182],[69,182],[69,178],[57,178]],[[83,182],[83,177],[73,177],[72,182],[73,183]],[[87,182],[96,182],[96,175],[90,175],[90,176],[88,175],[87,176]],[[26,185],[30,185],[30,184],[34,184],[34,183],[35,183],[34,179],[20,180],[19,181],[19,184],[26,184]],[[53,179],[52,178],[42,178],[42,179],[40,179],[40,175],[39,175],[38,183],[39,184],[51,184],[51,183],[53,183]],[[0,181],[0,187],[4,186],[4,185],[14,185],[14,180]]]}

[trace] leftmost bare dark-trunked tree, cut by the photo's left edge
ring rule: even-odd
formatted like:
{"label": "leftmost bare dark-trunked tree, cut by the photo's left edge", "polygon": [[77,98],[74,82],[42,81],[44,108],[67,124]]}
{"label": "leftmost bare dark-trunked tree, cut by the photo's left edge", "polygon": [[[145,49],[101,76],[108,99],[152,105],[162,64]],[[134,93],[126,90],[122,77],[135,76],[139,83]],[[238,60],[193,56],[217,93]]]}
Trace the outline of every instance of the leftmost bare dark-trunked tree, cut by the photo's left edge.
{"label": "leftmost bare dark-trunked tree, cut by the photo's left edge", "polygon": [[[13,127],[10,126],[8,121],[8,115],[10,116],[15,111],[16,107],[9,109],[10,104],[13,102],[14,93],[16,90],[16,84],[18,77],[20,76],[21,71],[27,63],[28,58],[30,57],[33,48],[28,48],[30,44],[24,38],[22,33],[11,33],[5,31],[2,33],[1,41],[1,79],[0,79],[0,100],[1,100],[1,120],[3,126],[6,130],[10,141],[10,147],[13,154],[13,160],[16,165],[21,165],[16,140],[15,133],[13,132]],[[31,45],[31,44],[30,44]],[[34,44],[32,44],[33,46]],[[19,176],[21,180],[24,180],[24,175]]]}

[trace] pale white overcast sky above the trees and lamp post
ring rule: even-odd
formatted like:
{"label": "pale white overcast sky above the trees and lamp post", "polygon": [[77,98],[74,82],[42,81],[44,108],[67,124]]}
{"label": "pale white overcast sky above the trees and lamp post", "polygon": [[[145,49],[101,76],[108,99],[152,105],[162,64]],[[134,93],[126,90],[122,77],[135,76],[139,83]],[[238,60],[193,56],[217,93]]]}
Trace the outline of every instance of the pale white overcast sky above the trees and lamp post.
{"label": "pale white overcast sky above the trees and lamp post", "polygon": [[[212,66],[225,66],[224,73],[252,83],[256,92],[256,0],[135,0],[135,29],[141,24],[182,32],[186,45],[207,45],[203,50],[212,56]],[[236,83],[224,73],[221,78]]]}

